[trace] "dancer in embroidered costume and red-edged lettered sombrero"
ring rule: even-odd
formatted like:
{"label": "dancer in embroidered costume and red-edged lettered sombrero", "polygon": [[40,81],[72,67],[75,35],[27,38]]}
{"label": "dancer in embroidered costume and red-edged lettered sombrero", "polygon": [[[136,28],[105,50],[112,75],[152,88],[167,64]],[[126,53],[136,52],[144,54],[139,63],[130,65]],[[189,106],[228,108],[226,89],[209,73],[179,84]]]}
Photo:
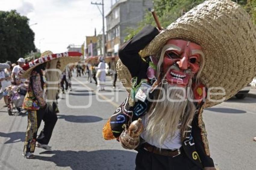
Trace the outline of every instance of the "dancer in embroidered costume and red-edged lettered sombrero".
{"label": "dancer in embroidered costume and red-edged lettered sombrero", "polygon": [[[52,54],[52,52],[46,51],[41,58],[29,62],[20,70],[20,77],[30,77],[29,89],[23,102],[23,107],[28,112],[28,126],[23,149],[24,157],[33,158],[36,146],[46,150],[51,149],[48,143],[58,119],[56,101],[58,83],[45,82],[58,82],[60,75],[57,71],[50,69],[63,71],[68,63],[79,61],[81,55],[78,52]],[[49,70],[44,73],[45,69]],[[37,137],[37,130],[42,120],[45,122],[44,128]]]}

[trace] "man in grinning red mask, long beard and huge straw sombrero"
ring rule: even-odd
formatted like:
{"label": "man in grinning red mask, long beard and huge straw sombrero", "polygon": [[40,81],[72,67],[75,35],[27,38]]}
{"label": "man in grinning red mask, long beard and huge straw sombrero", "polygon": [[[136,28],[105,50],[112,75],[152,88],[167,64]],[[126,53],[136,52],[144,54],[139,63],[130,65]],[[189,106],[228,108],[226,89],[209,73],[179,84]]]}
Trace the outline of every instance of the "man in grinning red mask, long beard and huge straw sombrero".
{"label": "man in grinning red mask, long beard and huge straw sombrero", "polygon": [[[233,29],[240,33],[235,36]],[[229,0],[205,1],[160,34],[146,26],[119,50],[119,78],[129,82],[132,77],[132,85],[105,124],[103,137],[136,149],[136,170],[214,170],[203,108],[223,102],[251,81],[254,34],[246,11]],[[239,60],[253,64],[248,68]],[[234,77],[242,80],[234,82]],[[139,118],[144,128],[136,138],[127,129]]]}

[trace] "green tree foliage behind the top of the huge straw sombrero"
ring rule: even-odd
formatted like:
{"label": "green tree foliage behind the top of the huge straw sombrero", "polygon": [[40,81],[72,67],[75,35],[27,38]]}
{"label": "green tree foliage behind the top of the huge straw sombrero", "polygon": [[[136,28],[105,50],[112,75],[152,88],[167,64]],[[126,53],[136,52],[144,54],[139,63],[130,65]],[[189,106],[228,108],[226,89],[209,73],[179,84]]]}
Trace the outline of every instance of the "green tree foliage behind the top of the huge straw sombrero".
{"label": "green tree foliage behind the top of the huge straw sombrero", "polygon": [[[256,0],[233,0],[234,2],[242,5],[246,11],[252,16],[253,22],[256,23]],[[170,23],[181,17],[187,11],[196,5],[204,2],[204,0],[154,0],[154,9],[158,16],[161,26],[166,28]],[[156,26],[155,20],[151,12],[147,11],[144,19],[138,23],[136,29],[127,28],[128,36],[125,38],[129,40],[136,33],[139,32],[145,25]]]}

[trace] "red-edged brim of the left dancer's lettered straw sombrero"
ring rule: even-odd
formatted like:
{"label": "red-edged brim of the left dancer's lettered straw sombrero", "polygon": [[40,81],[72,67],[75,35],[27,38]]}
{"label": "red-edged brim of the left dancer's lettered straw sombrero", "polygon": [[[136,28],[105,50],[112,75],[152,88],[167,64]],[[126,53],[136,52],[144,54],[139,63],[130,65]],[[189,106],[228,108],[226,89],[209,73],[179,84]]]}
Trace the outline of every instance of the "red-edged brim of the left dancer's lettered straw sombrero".
{"label": "red-edged brim of the left dancer's lettered straw sombrero", "polygon": [[[64,53],[60,53],[60,54],[63,56]],[[54,56],[56,56],[56,54],[52,54],[52,56],[54,57]],[[29,64],[31,62],[33,62],[33,61],[31,61],[23,67],[23,70],[20,70],[19,76],[21,78],[29,78],[33,69],[36,68],[38,65],[41,65],[43,63],[46,63],[46,62],[49,62],[49,61],[52,61],[52,60],[56,60],[56,59],[58,59],[60,61],[60,68],[59,69],[62,72],[62,71],[65,70],[65,66],[68,65],[69,63],[76,63],[76,62],[80,61],[81,56],[82,56],[82,53],[68,52],[68,56],[63,56],[63,57],[60,57],[60,58],[53,58],[51,60],[47,60],[47,61],[42,62],[42,63],[37,63],[36,65],[33,65],[32,67],[30,67]],[[44,58],[44,57],[47,57],[47,56],[43,56],[43,57],[40,57],[40,58]]]}

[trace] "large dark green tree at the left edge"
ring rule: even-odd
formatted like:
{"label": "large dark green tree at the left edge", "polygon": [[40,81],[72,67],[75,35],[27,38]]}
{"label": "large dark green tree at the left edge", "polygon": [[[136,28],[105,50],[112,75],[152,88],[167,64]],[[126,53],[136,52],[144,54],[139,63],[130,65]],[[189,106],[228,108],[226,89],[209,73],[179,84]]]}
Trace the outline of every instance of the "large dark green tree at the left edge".
{"label": "large dark green tree at the left edge", "polygon": [[0,11],[0,62],[16,62],[31,50],[35,51],[34,32],[29,19],[17,11]]}

